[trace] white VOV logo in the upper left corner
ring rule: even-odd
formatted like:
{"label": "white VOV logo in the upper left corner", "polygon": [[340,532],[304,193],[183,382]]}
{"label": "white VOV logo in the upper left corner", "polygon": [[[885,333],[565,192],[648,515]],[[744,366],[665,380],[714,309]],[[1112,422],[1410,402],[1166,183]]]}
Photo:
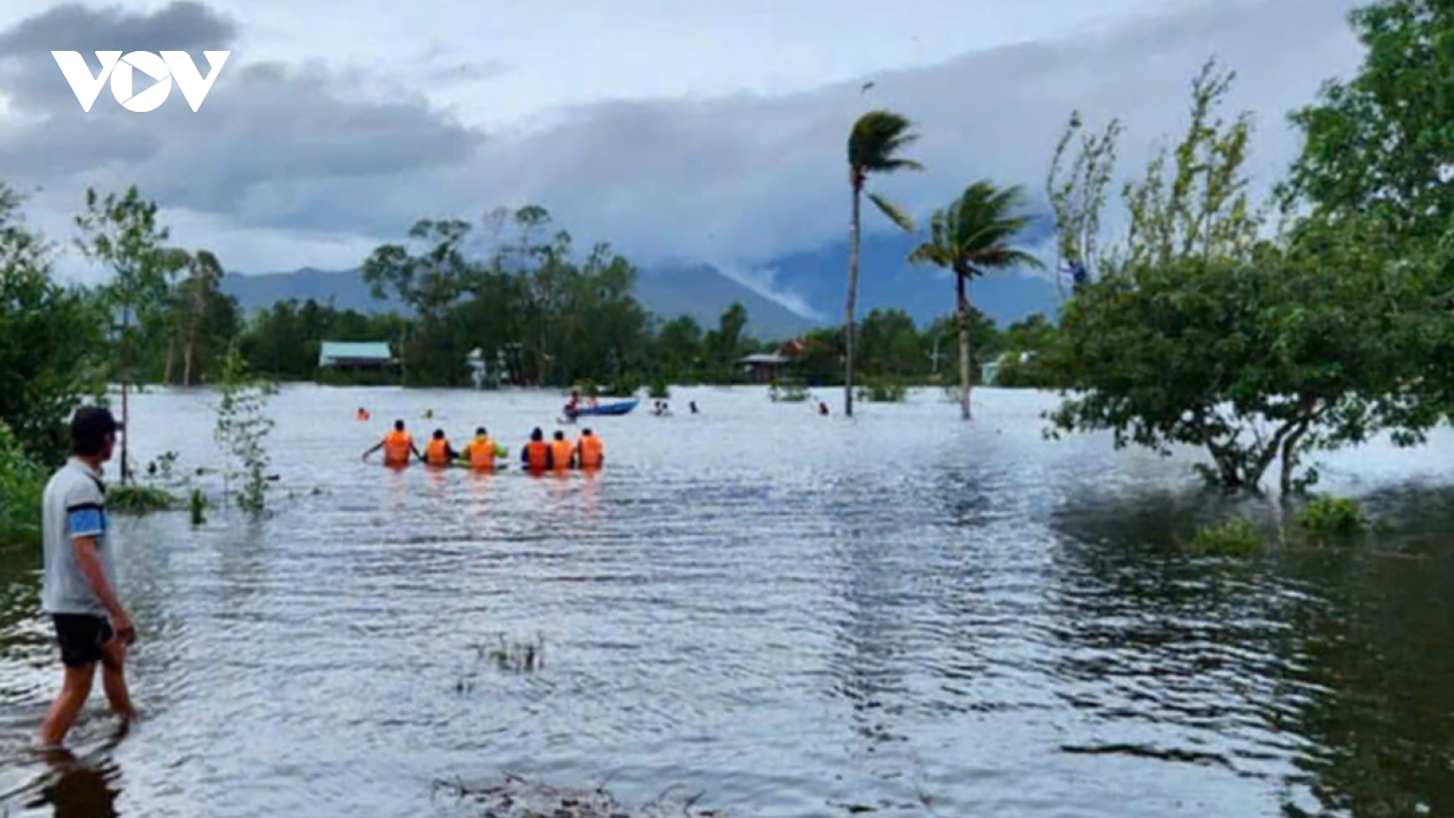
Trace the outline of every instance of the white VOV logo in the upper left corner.
{"label": "white VOV logo in the upper left corner", "polygon": [[[217,74],[222,71],[222,64],[227,63],[231,51],[204,51],[202,54],[211,67],[206,79],[198,73],[196,64],[192,63],[192,57],[186,51],[163,51],[161,57],[150,51],[132,51],[125,57],[121,55],[121,51],[97,51],[100,74],[95,77],[86,67],[86,58],[81,57],[80,51],[51,52],[61,67],[61,73],[65,74],[65,82],[71,83],[71,90],[76,92],[81,111],[87,114],[108,77],[111,77],[111,93],[126,111],[137,114],[156,111],[172,93],[172,80],[177,82],[177,87],[182,89],[182,96],[186,98],[192,111],[202,108],[206,92],[212,90],[212,83],[217,82]],[[135,92],[137,73],[150,77],[154,84]]]}

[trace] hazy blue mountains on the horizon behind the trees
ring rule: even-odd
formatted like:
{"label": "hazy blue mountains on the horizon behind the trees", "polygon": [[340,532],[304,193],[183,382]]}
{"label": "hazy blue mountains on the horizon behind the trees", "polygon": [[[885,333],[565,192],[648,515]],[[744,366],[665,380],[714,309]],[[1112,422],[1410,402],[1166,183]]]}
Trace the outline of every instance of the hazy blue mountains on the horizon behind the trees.
{"label": "hazy blue mountains on the horizon behind the trees", "polygon": [[[954,288],[947,274],[904,262],[910,247],[909,237],[874,236],[864,242],[859,304],[864,311],[899,307],[922,326],[954,309]],[[846,268],[846,245],[782,256],[758,265],[752,275],[731,277],[705,263],[648,268],[637,279],[637,298],[663,319],[692,316],[704,327],[715,326],[723,310],[740,301],[750,316],[752,335],[792,338],[840,320]],[[374,298],[358,269],[228,274],[222,291],[246,311],[289,298],[364,313],[403,311],[394,300]],[[1041,277],[993,274],[976,279],[971,295],[976,307],[1000,326],[1034,313],[1056,313],[1054,284]]]}

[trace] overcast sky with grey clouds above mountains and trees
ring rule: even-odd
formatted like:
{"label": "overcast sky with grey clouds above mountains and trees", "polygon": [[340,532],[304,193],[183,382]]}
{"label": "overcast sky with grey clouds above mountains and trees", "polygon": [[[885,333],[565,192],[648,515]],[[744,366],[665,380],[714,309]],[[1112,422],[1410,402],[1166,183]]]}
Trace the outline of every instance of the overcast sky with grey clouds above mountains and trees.
{"label": "overcast sky with grey clouds above mountains and trees", "polygon": [[[426,215],[538,202],[644,263],[752,269],[845,237],[843,141],[919,124],[929,170],[883,189],[926,214],[981,176],[1038,192],[1072,108],[1121,115],[1127,164],[1176,128],[1216,54],[1258,114],[1348,74],[1346,0],[298,0],[0,4],[0,173],[57,236],[87,185],[138,183],[177,243],[234,271],[346,268]],[[346,9],[342,10],[342,9]],[[231,49],[199,112],[102,90],[51,49]],[[875,86],[862,93],[861,84]],[[144,87],[144,86],[138,86]],[[67,268],[79,272],[74,265]]]}

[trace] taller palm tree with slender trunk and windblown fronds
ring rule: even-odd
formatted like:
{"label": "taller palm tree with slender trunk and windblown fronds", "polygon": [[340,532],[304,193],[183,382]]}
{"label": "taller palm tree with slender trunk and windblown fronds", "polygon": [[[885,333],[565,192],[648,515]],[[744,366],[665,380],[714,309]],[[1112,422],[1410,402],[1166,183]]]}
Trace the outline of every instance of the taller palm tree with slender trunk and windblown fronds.
{"label": "taller palm tree with slender trunk and windblown fronds", "polygon": [[[846,342],[846,355],[843,360],[843,413],[849,416],[853,415],[853,319],[858,310],[859,202],[869,173],[923,170],[923,166],[917,162],[899,156],[900,150],[919,138],[917,134],[910,132],[912,127],[909,119],[890,111],[869,111],[853,124],[853,132],[848,137],[848,179],[853,185],[853,224],[849,233],[848,307],[843,322]],[[868,199],[890,221],[909,233],[913,231],[913,220],[899,210],[897,205],[878,194],[868,194]]]}

